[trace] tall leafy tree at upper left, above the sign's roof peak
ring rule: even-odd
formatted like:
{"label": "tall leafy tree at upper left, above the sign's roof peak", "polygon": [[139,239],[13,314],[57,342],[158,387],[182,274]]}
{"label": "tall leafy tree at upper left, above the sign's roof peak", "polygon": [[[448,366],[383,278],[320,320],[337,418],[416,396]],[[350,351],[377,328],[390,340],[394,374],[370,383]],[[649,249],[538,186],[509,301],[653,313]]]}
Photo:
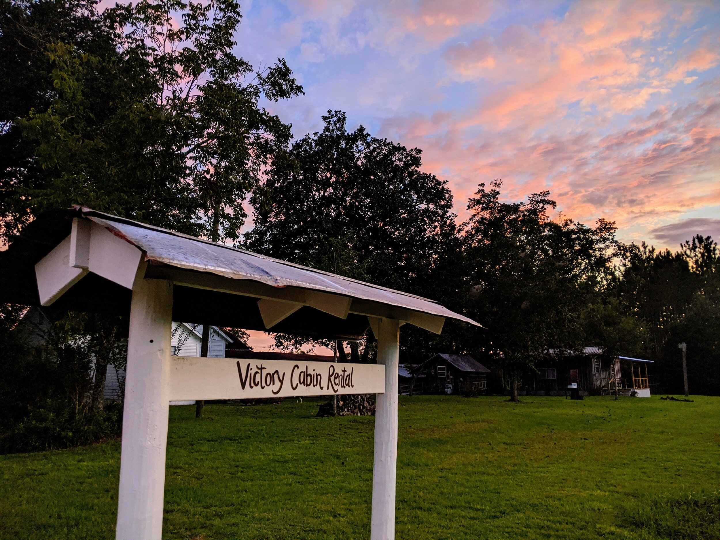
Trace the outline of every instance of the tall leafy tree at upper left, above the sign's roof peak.
{"label": "tall leafy tree at upper left, above the sign's roof peak", "polygon": [[[27,30],[37,12],[52,10],[48,4],[72,6],[102,46]],[[101,14],[94,2],[7,5],[15,33],[30,35],[37,52],[33,84],[45,81],[50,91],[4,119],[3,136],[32,148],[18,156],[11,168],[19,172],[4,186],[4,215],[16,224],[6,234],[38,212],[78,203],[237,239],[243,200],[290,137],[289,126],[258,101],[302,92],[284,60],[253,71],[232,52],[238,3],[140,1]],[[2,45],[9,56],[23,46],[11,39]],[[22,62],[11,67],[22,71]]]}

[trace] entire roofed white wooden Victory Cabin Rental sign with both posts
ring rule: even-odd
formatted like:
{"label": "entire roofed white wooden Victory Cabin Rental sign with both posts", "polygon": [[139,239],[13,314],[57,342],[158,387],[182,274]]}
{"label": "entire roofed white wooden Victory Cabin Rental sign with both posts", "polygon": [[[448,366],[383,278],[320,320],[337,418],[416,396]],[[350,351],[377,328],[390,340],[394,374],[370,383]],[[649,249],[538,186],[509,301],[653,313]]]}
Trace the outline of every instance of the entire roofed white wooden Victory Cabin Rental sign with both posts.
{"label": "entire roofed white wooden Victory Cabin Rental sign with both posts", "polygon": [[[377,395],[370,538],[395,538],[400,326],[440,333],[445,318],[477,323],[425,298],[86,208],[68,210],[63,219],[66,236],[41,217],[27,227],[24,243],[3,255],[0,271],[17,266],[16,283],[6,284],[14,288],[3,298],[17,302],[23,293],[45,306],[122,309],[123,291],[132,291],[118,540],[161,539],[171,400],[354,393]],[[38,231],[58,238],[55,246],[48,248]],[[29,291],[33,266],[37,289]],[[201,302],[203,294],[215,296]],[[202,312],[207,305],[215,311]],[[340,339],[359,338],[369,325],[377,364],[171,356],[171,321],[190,320],[188,314],[204,319],[191,321],[197,323]]]}

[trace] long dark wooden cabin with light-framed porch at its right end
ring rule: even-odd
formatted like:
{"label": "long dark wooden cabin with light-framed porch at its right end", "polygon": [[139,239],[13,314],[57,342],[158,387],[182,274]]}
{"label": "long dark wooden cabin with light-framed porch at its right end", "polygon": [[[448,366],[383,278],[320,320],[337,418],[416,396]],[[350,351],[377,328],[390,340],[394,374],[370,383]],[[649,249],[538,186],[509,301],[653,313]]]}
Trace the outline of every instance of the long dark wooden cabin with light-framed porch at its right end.
{"label": "long dark wooden cabin with light-framed porch at its right end", "polygon": [[[572,389],[580,395],[650,397],[647,366],[652,363],[629,356],[609,356],[600,347],[585,347],[582,351],[550,349],[545,359],[536,362],[534,370],[523,374],[522,393],[565,395]],[[503,386],[510,388],[504,374]]]}

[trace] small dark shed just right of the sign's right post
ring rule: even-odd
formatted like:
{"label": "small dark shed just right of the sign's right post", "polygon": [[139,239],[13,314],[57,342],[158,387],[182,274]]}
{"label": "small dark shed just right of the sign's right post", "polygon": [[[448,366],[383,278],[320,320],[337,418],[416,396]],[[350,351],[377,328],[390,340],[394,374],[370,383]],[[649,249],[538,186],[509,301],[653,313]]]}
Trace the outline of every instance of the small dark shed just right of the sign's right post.
{"label": "small dark shed just right of the sign's right post", "polygon": [[418,376],[424,375],[426,382],[423,390],[433,394],[485,394],[490,369],[467,354],[436,354],[413,372]]}

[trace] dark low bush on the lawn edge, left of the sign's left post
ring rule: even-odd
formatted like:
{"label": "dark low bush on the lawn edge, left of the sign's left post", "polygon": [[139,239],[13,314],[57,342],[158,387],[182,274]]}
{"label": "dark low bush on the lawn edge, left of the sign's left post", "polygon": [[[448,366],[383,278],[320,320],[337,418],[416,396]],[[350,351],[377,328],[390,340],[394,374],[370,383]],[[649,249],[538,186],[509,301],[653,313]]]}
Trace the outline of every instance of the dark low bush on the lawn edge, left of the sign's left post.
{"label": "dark low bush on the lawn edge, left of the sign's left post", "polygon": [[71,448],[120,436],[122,405],[110,403],[96,413],[72,410],[32,410],[0,436],[0,453]]}

